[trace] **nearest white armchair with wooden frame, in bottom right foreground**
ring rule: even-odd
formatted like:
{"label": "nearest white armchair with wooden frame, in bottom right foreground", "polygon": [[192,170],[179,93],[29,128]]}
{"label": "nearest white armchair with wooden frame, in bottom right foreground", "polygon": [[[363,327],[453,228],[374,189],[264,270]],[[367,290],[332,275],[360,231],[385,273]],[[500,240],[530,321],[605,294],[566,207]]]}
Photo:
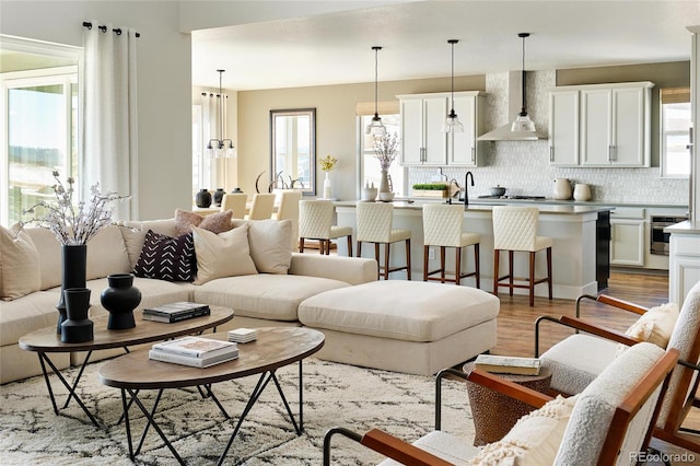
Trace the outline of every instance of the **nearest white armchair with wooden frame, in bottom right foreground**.
{"label": "nearest white armchair with wooden frame, in bottom right foreground", "polygon": [[[478,370],[472,371],[466,378],[542,408],[539,410],[541,417],[546,417],[544,413],[548,412],[550,419],[557,419],[556,422],[560,422],[561,419],[563,429],[552,430],[548,435],[551,439],[546,439],[552,442],[553,448],[558,448],[556,453],[552,452],[556,457],[545,459],[536,456],[535,461],[538,464],[612,465],[618,458],[623,463],[630,463],[633,455],[643,452],[649,445],[651,426],[654,424],[661,407],[658,400],[664,395],[677,359],[677,350],[664,351],[648,342],[631,347],[575,397],[575,404],[572,399],[567,401],[573,406],[568,419],[565,416],[551,416],[555,406],[563,403],[562,398],[552,400],[548,395]],[[441,377],[442,375],[439,375],[438,381]],[[467,464],[469,458],[479,454],[479,450],[468,444],[465,439],[440,430],[439,388],[440,382],[435,395],[435,431],[409,444],[377,429],[359,434],[345,428],[334,428],[326,432],[324,438],[324,465],[329,466],[331,463],[331,438],[336,434],[352,439],[390,458],[382,465],[395,465],[395,462],[419,466]],[[517,429],[528,430],[532,426],[528,426],[528,422],[537,419],[537,412],[522,418],[503,442],[489,444],[483,451],[493,453],[497,457],[512,454],[508,453],[512,445],[523,444],[512,436],[513,432]],[[494,416],[498,413],[494,412]],[[537,452],[535,450],[533,447],[525,454],[542,455],[546,448]]]}

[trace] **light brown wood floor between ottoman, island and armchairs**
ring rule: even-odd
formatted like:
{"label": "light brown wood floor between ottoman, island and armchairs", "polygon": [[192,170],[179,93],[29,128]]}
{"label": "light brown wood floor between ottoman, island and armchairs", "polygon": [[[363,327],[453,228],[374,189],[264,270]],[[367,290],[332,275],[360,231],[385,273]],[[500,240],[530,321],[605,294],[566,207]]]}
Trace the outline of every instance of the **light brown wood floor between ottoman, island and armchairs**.
{"label": "light brown wood floor between ottoman, island and armchairs", "polygon": [[[668,302],[668,277],[646,273],[612,272],[608,282],[609,287],[603,293],[620,298],[633,303],[650,307]],[[539,287],[542,287],[541,284]],[[500,292],[501,311],[498,317],[498,342],[491,350],[492,354],[510,354],[533,357],[535,353],[535,319],[540,315],[575,315],[575,303],[569,300],[552,300],[536,298],[535,306],[528,305],[526,295],[509,296],[508,291]],[[625,331],[637,317],[631,313],[611,311],[609,306],[603,306],[593,301],[584,301],[581,315],[593,322],[599,322],[608,328]],[[606,308],[607,307],[607,308]],[[629,315],[627,315],[629,314]],[[552,325],[540,328],[540,353],[552,343],[571,335],[565,328],[556,328]],[[693,410],[685,424],[688,428],[700,429],[700,412]],[[668,454],[681,454],[685,450],[675,447],[665,442],[652,441],[652,446]],[[700,465],[700,455],[696,454],[695,463]],[[656,465],[657,463],[653,463]],[[662,463],[658,463],[662,464]],[[652,463],[648,463],[652,465]]]}

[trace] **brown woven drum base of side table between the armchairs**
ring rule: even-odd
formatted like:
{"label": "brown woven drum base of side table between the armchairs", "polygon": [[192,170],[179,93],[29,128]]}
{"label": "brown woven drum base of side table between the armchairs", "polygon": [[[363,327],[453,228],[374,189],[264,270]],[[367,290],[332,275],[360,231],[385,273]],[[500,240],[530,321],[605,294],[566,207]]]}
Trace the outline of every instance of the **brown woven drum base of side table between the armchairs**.
{"label": "brown woven drum base of side table between the armchairs", "polygon": [[[465,373],[469,373],[471,370],[474,370],[474,362],[468,362],[463,366]],[[549,368],[541,368],[538,375],[498,375],[540,393],[547,393],[551,382]],[[535,409],[526,403],[469,381],[467,381],[467,394],[474,418],[474,446],[486,445],[503,439],[520,418]]]}

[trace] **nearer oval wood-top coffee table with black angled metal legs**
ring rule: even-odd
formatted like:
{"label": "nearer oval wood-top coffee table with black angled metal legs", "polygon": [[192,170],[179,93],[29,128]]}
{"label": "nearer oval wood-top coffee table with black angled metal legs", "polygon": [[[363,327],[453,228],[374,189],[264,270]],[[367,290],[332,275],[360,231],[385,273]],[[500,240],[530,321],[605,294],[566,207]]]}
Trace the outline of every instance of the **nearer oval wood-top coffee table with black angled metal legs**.
{"label": "nearer oval wood-top coffee table with black angled metal legs", "polygon": [[[296,434],[301,435],[304,428],[304,385],[302,378],[302,360],[323,348],[325,340],[324,334],[306,327],[264,327],[258,328],[257,334],[257,339],[255,341],[238,345],[238,359],[212,365],[210,368],[199,369],[170,362],[154,361],[149,359],[148,350],[135,351],[130,354],[121,356],[100,368],[100,382],[107,386],[121,389],[121,400],[124,404],[125,424],[127,429],[130,458],[133,461],[135,456],[139,453],[140,445],[135,452],[130,434],[130,403],[127,400],[127,393],[133,404],[139,407],[141,412],[149,420],[145,426],[145,430],[141,434],[141,439],[145,436],[149,427],[152,426],[165,442],[165,445],[171,453],[173,453],[173,456],[175,456],[180,464],[184,464],[183,458],[175,451],[175,447],[167,440],[154,419],[158,400],[160,400],[162,392],[165,388],[192,386],[203,387],[207,392],[207,396],[212,398],[224,417],[229,419],[230,416],[213,394],[211,384],[246,377],[248,375],[259,374],[260,377],[255,389],[250,394],[248,403],[243,409],[241,417],[238,418],[229,443],[219,458],[219,464],[222,464],[225,459],[229,448],[238,433],[241,424],[270,381],[272,381],[277,387]],[[226,340],[228,333],[222,331],[207,335],[207,338]],[[287,397],[284,396],[276,375],[276,371],[279,368],[294,362],[299,362],[299,424],[294,419],[294,415],[292,413],[289,403],[287,401]],[[139,399],[138,395],[142,389],[159,391],[159,395],[155,398],[155,405],[151,407],[151,409],[147,409]]]}

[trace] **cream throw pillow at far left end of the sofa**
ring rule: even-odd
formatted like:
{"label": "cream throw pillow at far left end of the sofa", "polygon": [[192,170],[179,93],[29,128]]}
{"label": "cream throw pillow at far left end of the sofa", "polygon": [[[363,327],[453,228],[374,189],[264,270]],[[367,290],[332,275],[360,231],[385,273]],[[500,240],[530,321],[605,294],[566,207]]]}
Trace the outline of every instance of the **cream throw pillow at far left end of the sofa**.
{"label": "cream throw pillow at far left end of the sofa", "polygon": [[32,238],[0,226],[0,299],[12,301],[42,287],[39,254]]}

